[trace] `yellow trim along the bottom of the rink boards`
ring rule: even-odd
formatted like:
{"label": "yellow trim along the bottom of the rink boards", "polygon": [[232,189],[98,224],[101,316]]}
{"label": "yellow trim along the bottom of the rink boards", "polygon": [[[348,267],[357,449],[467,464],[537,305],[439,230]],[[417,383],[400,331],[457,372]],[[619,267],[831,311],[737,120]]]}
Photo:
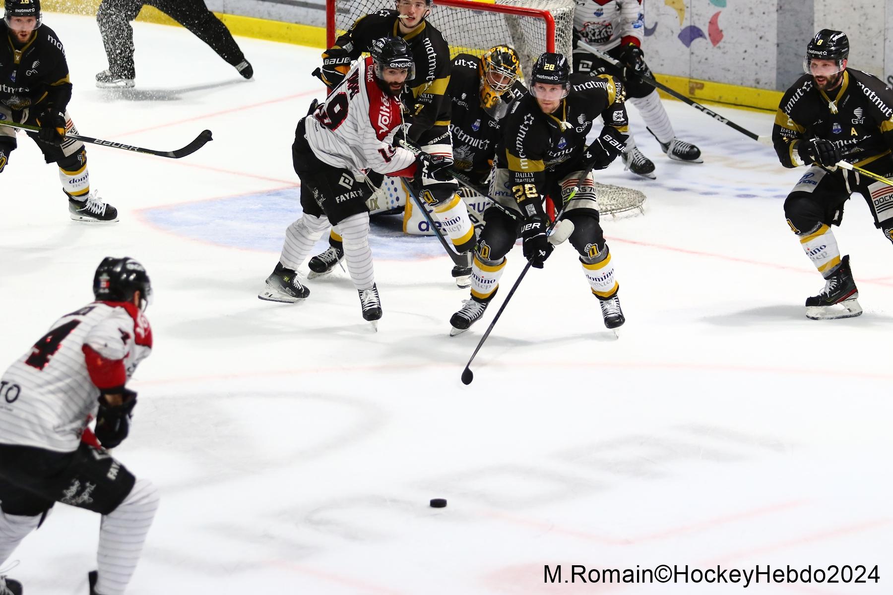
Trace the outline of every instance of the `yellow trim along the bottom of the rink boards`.
{"label": "yellow trim along the bottom of the rink boards", "polygon": [[[43,0],[41,8],[46,12],[68,12],[95,16],[99,1],[79,0],[79,2],[72,3],[71,0]],[[495,4],[493,0],[484,1],[488,4]],[[214,14],[226,24],[233,35],[326,49],[326,29],[324,27],[266,21],[221,12],[214,12]],[[137,21],[176,24],[170,17],[151,6],[143,7]],[[714,83],[709,80],[690,79],[669,74],[655,74],[655,79],[667,87],[691,97],[698,103],[721,103],[770,112],[778,109],[781,96],[784,95],[781,91],[772,89],[740,87],[739,85]],[[663,92],[659,93],[664,99],[674,99]]]}

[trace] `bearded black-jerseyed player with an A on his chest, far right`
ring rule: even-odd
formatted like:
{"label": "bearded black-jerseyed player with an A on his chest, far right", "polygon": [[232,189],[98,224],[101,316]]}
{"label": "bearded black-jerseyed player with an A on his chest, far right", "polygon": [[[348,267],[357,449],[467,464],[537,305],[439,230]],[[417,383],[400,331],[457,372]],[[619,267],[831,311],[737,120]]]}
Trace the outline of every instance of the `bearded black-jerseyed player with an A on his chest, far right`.
{"label": "bearded black-jerseyed player with an A on his chest, far right", "polygon": [[893,241],[893,187],[839,161],[893,178],[893,91],[862,70],[847,68],[849,40],[822,29],[806,47],[804,70],[781,98],[772,142],[786,168],[809,169],[788,194],[785,217],[806,256],[825,278],[818,295],[806,300],[808,318],[848,318],[862,308],[849,266],[831,231],[839,225],[850,194],[864,196],[878,227]]}

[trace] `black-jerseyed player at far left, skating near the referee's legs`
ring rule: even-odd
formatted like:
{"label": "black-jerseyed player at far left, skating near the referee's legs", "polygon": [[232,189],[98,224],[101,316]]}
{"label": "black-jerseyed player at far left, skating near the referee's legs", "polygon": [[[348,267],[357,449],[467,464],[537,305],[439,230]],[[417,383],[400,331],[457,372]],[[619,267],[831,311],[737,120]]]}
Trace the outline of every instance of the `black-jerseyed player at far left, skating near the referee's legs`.
{"label": "black-jerseyed player at far left, skating near the referee's legs", "polygon": [[0,173],[18,146],[15,128],[4,120],[39,126],[29,132],[47,163],[59,167],[69,214],[78,221],[112,222],[118,211],[90,192],[87,151],[67,107],[71,101],[68,62],[59,36],[43,24],[40,0],[6,0],[0,22]]}

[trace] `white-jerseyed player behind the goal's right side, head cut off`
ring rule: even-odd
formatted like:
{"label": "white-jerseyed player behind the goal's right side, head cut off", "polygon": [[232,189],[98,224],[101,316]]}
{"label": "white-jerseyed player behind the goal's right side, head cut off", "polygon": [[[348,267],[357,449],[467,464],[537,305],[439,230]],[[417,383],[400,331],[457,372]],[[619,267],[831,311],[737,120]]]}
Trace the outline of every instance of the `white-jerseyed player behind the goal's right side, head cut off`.
{"label": "white-jerseyed player behind the goal's right side, head cut off", "polygon": [[[701,150],[697,146],[676,138],[670,118],[663,109],[655,87],[648,85],[639,75],[653,77],[642,53],[643,0],[577,0],[573,13],[573,71],[607,73],[620,79],[626,88],[628,101],[636,106],[648,132],[655,136],[663,153],[675,161],[701,163]],[[581,40],[597,50],[622,62],[619,69],[577,46]],[[655,178],[655,164],[636,146],[630,132],[627,149],[621,155],[623,165],[643,178]]]}

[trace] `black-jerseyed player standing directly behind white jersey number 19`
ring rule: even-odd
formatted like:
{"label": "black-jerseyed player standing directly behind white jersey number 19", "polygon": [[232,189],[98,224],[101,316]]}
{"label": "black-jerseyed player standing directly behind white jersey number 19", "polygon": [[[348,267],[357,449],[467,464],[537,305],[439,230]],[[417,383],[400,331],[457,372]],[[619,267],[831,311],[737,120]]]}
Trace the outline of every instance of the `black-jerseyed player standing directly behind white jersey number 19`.
{"label": "black-jerseyed player standing directly behind white jersey number 19", "polygon": [[[369,51],[372,40],[387,36],[403,37],[415,56],[415,78],[409,81],[402,97],[408,125],[406,134],[425,153],[451,157],[450,106],[446,96],[450,54],[440,31],[426,21],[433,4],[433,0],[397,0],[396,10],[380,10],[361,17],[344,35],[338,37],[335,45],[322,54],[322,67],[314,74],[332,88],[344,78],[350,63]],[[380,178],[375,182],[379,183]],[[429,194],[426,201],[434,208],[435,219],[443,224],[441,229],[452,240],[456,252],[466,252],[470,259],[474,247],[474,228],[455,190],[450,191],[445,185]],[[311,278],[329,272],[344,258],[337,227],[330,235],[329,244],[329,249],[314,256],[308,263]],[[453,276],[457,279],[467,277],[469,272],[468,267],[455,267]]]}

